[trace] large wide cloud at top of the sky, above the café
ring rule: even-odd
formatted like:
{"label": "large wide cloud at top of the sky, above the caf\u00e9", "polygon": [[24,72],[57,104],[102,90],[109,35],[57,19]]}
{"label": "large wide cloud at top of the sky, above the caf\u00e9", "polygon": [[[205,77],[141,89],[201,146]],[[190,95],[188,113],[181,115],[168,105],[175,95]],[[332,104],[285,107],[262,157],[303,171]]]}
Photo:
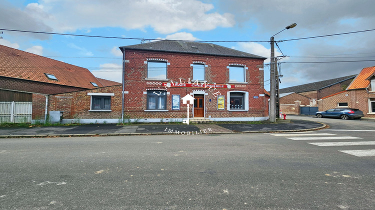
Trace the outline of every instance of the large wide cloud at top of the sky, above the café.
{"label": "large wide cloud at top of the sky, above the caf\u00e9", "polygon": [[210,12],[213,5],[198,0],[40,0],[25,11],[56,31],[75,31],[92,27],[122,27],[173,33],[231,27],[230,13]]}

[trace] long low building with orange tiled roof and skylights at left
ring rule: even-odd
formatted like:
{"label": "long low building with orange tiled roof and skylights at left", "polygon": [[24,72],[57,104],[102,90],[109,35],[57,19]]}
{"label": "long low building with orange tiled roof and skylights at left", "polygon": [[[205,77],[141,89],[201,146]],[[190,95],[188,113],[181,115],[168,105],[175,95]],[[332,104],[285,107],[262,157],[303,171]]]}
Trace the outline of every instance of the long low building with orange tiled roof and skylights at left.
{"label": "long low building with orange tiled roof and skylights at left", "polygon": [[[117,84],[96,78],[86,68],[0,45],[0,102],[32,103],[32,119],[45,119],[51,94]],[[26,118],[30,121],[31,113]]]}

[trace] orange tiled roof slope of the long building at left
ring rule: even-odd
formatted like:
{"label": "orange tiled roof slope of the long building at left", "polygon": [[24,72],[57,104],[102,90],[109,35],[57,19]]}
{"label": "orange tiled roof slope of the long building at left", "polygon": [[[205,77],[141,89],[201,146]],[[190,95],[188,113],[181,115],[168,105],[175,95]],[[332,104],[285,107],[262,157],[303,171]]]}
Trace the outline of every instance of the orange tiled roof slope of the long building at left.
{"label": "orange tiled roof slope of the long building at left", "polygon": [[[57,80],[48,79],[45,73]],[[3,45],[0,45],[0,76],[88,89],[95,88],[90,82],[103,86],[87,68]]]}

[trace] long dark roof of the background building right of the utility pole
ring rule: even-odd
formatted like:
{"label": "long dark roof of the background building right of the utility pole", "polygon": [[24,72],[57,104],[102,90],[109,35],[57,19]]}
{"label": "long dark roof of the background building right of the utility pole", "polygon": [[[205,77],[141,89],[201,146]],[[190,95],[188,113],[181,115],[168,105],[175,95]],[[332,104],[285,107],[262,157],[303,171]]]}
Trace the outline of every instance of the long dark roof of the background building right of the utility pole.
{"label": "long dark roof of the background building right of the utility pole", "polygon": [[312,90],[318,90],[323,87],[328,87],[330,85],[336,84],[338,82],[342,82],[348,79],[354,78],[356,75],[350,75],[350,76],[343,76],[339,78],[333,78],[333,79],[327,79],[323,81],[316,81],[316,82],[311,82],[307,84],[301,84],[301,85],[296,85],[296,86],[291,86],[291,87],[286,87],[286,88],[281,88],[279,90],[280,93],[287,93],[287,92],[307,92],[307,91],[312,91]]}

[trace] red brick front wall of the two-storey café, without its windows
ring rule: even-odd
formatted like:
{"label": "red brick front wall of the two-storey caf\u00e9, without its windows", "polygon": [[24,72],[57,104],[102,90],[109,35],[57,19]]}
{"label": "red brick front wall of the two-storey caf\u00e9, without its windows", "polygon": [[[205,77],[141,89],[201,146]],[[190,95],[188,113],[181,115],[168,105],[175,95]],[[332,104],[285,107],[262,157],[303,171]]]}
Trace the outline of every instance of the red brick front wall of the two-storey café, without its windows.
{"label": "red brick front wall of the two-storey caf\u00e9, without its windows", "polygon": [[[167,92],[166,112],[154,111],[147,112],[146,109],[146,94],[143,91],[147,89],[163,89],[161,81],[145,80],[147,74],[147,64],[144,61],[147,58],[161,58],[166,59],[170,65],[167,66],[167,78],[169,80],[187,82],[188,78],[192,78],[192,67],[190,64],[193,61],[203,61],[206,67],[206,80],[209,83],[229,83],[229,69],[226,66],[229,63],[239,63],[246,65],[246,82],[248,84],[234,84],[236,86],[233,90],[248,92],[248,111],[227,111],[227,89],[216,89],[208,91],[208,88],[177,88],[170,87]],[[263,66],[263,59],[249,59],[249,58],[234,58],[224,56],[208,56],[208,55],[191,55],[183,53],[155,53],[142,51],[126,51],[125,59],[129,63],[125,63],[125,114],[130,115],[131,118],[183,118],[186,117],[186,104],[180,103],[180,110],[171,110],[171,95],[179,94],[180,97],[193,92],[194,90],[204,90],[208,95],[205,96],[205,107],[207,110],[206,117],[260,117],[265,114],[264,94],[263,88],[263,70],[259,70]],[[230,83],[229,83],[230,84]],[[217,98],[212,94],[220,92],[220,95],[225,96],[225,110],[217,110]],[[257,96],[258,98],[254,98]],[[209,101],[211,100],[211,101]],[[268,109],[268,108],[266,108]]]}

